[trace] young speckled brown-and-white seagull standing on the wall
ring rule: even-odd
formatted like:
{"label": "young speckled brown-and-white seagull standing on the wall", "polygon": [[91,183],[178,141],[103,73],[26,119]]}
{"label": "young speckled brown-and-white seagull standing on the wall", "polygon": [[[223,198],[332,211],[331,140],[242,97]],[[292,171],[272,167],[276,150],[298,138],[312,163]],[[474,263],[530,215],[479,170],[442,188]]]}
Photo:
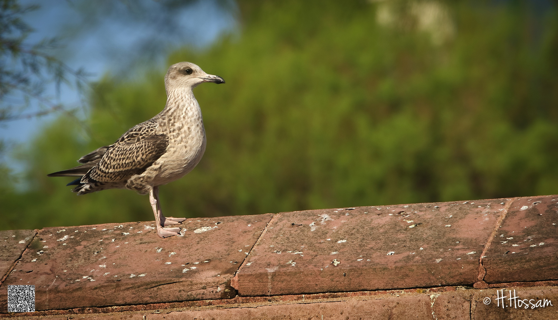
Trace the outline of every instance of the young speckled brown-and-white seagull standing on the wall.
{"label": "young speckled brown-and-white seagull standing on the wall", "polygon": [[105,189],[129,189],[149,193],[157,235],[180,235],[185,218],[165,217],[161,212],[159,186],[175,181],[200,162],[205,151],[205,129],[201,109],[192,89],[204,82],[225,83],[190,62],[169,67],[165,75],[167,103],[155,117],[134,125],[116,142],[81,157],[80,166],[47,174],[49,177],[78,176],[68,186],[85,195]]}

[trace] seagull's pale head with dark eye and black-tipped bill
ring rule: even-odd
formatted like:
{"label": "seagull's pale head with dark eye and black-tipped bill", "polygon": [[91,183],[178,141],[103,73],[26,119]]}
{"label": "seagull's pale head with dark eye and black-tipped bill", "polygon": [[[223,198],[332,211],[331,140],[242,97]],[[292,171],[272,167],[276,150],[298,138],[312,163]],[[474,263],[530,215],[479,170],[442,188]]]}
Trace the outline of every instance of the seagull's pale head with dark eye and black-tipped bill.
{"label": "seagull's pale head with dark eye and black-tipped bill", "polygon": [[165,75],[167,91],[174,88],[195,88],[200,83],[225,83],[220,76],[208,75],[201,68],[191,62],[179,62],[169,67]]}

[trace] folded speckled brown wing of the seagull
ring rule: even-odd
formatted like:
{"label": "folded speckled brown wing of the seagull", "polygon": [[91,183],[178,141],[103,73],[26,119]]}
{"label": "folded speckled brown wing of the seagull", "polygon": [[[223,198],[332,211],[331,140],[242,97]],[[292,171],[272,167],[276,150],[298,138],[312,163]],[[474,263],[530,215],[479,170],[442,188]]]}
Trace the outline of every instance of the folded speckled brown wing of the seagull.
{"label": "folded speckled brown wing of the seagull", "polygon": [[169,138],[165,134],[155,133],[157,127],[155,120],[148,120],[129,129],[102,151],[97,166],[85,174],[80,183],[122,182],[133,174],[144,172],[169,146]]}

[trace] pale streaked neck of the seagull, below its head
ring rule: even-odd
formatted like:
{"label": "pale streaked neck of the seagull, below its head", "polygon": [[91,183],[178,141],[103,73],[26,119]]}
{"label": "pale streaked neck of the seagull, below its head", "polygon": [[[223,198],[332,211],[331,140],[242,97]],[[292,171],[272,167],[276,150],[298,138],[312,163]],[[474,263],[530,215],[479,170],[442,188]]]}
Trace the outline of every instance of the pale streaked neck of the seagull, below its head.
{"label": "pale streaked neck of the seagull, below its head", "polygon": [[168,125],[201,121],[201,109],[191,89],[167,90],[165,109],[159,114]]}

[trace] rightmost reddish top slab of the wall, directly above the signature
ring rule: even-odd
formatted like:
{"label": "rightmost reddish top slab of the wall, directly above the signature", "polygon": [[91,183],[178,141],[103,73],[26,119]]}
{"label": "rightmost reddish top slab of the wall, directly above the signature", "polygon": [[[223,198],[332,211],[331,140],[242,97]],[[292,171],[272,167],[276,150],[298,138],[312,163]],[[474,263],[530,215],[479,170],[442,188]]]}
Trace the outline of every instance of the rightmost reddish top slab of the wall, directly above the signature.
{"label": "rightmost reddish top slab of the wall, directly above the signature", "polygon": [[557,203],[557,196],[513,201],[483,258],[485,282],[558,279]]}

